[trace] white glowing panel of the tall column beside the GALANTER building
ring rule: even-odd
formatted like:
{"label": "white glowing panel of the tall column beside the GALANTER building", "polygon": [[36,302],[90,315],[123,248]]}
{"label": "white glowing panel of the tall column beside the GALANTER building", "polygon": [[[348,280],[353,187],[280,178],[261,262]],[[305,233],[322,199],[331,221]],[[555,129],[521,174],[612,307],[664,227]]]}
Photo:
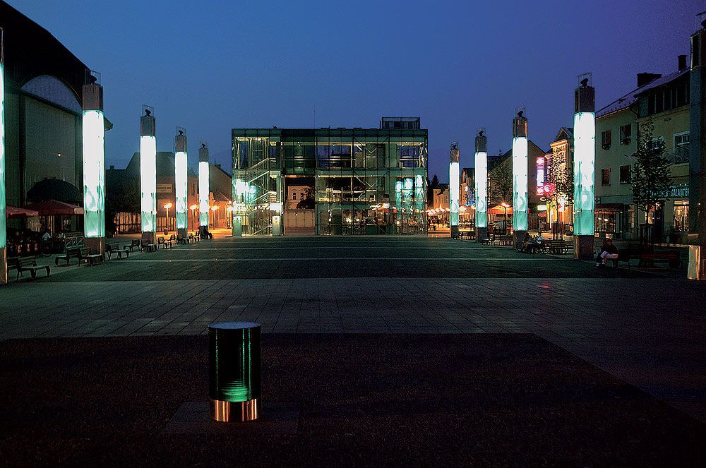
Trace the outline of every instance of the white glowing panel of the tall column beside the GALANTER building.
{"label": "white glowing panel of the tall column beside the GALANTER building", "polygon": [[596,119],[593,112],[574,115],[574,234],[594,234]]}

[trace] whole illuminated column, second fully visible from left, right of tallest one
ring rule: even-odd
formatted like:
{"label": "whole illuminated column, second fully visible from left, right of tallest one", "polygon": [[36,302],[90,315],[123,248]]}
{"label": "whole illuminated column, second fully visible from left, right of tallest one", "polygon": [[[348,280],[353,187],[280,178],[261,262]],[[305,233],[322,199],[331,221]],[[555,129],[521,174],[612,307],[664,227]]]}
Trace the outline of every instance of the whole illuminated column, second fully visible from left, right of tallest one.
{"label": "whole illuminated column, second fully visible from left, right of tallest one", "polygon": [[145,244],[157,241],[157,138],[152,113],[151,107],[144,106],[140,117],[140,215]]}

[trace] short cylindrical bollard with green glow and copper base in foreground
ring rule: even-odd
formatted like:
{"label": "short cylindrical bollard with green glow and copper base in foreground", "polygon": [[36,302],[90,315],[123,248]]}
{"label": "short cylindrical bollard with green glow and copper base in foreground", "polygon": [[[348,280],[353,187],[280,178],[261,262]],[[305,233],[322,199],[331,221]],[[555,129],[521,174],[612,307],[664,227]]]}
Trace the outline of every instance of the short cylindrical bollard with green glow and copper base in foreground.
{"label": "short cylindrical bollard with green glow and copper base in foreground", "polygon": [[258,419],[262,392],[260,324],[208,325],[208,397],[216,421]]}

